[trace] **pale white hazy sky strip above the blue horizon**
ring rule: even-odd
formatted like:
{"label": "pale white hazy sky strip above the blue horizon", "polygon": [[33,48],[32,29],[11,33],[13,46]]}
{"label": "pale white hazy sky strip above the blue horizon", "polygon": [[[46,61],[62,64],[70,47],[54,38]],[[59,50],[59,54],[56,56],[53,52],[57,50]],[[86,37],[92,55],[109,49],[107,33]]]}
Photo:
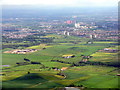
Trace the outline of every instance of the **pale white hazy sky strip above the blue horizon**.
{"label": "pale white hazy sky strip above the blue horizon", "polygon": [[2,5],[117,6],[119,0],[0,0]]}

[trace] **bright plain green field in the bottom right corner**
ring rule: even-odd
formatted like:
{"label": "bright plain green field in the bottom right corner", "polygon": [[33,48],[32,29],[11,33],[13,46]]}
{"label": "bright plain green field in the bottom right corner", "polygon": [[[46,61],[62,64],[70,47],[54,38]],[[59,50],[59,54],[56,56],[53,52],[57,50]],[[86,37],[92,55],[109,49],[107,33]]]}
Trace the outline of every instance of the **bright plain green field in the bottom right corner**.
{"label": "bright plain green field in the bottom right corner", "polygon": [[118,77],[110,75],[98,75],[87,80],[76,82],[75,85],[84,85],[89,88],[120,88]]}

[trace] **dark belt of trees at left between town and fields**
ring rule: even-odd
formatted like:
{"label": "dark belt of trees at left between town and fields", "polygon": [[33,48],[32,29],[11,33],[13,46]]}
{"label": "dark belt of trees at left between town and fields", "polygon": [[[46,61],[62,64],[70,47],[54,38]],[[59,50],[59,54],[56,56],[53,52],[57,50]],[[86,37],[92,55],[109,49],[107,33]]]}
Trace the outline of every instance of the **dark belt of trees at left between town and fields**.
{"label": "dark belt of trees at left between town and fields", "polygon": [[[13,48],[16,49],[18,47],[30,47],[34,45],[39,45],[40,43],[52,43],[54,38],[40,38],[38,35],[27,36],[24,38],[3,38],[3,45],[2,48]],[[9,44],[6,44],[9,43]],[[11,44],[14,43],[14,44]],[[21,44],[22,43],[22,44]]]}

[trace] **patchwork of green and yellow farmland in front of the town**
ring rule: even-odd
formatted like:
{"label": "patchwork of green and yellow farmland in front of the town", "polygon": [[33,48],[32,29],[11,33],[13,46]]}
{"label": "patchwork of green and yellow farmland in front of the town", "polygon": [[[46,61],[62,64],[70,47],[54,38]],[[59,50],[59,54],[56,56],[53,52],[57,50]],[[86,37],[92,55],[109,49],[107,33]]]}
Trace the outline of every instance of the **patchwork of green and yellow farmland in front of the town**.
{"label": "patchwork of green and yellow farmland in front of the town", "polygon": [[[25,48],[37,49],[33,53],[3,53],[0,76],[3,88],[119,88],[119,66],[116,64],[119,51],[100,51],[118,49],[117,42],[87,44],[85,38],[55,37],[53,43]],[[8,50],[11,49],[3,52]],[[72,55],[74,57],[70,57]]]}

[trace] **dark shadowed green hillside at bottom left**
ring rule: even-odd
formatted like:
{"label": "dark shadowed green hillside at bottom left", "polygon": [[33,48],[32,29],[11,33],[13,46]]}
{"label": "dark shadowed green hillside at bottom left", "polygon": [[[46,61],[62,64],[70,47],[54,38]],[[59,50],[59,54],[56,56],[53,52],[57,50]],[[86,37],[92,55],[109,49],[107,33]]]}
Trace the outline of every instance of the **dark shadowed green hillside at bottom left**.
{"label": "dark shadowed green hillside at bottom left", "polygon": [[25,88],[26,87],[27,88],[27,87],[36,85],[38,83],[43,83],[45,81],[47,80],[41,77],[39,74],[32,73],[32,74],[27,74],[13,80],[9,80],[7,82],[3,82],[3,87],[8,87],[8,88],[10,87]]}

